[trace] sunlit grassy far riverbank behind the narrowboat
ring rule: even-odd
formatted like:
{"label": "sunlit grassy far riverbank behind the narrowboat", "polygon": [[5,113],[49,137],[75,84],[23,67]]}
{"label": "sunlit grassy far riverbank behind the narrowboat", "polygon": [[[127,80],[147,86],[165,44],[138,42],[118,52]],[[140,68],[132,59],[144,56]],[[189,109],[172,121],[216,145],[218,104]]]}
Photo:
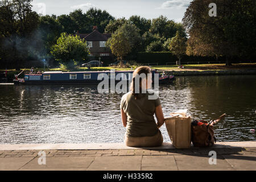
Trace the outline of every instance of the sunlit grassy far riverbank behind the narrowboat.
{"label": "sunlit grassy far riverbank behind the narrowboat", "polygon": [[[166,72],[170,75],[175,76],[193,76],[193,75],[256,75],[256,63],[237,63],[231,66],[226,66],[225,64],[188,64],[183,65],[184,68],[178,68],[177,65],[152,65],[152,69],[157,69],[159,72]],[[135,69],[136,67],[133,67]],[[68,70],[61,68],[46,68],[45,71],[106,71],[115,69],[117,71],[127,71],[131,68],[118,68],[118,67],[92,67],[90,70],[88,68],[79,67],[76,69]],[[23,70],[23,69],[22,69]],[[44,71],[43,68],[38,68],[39,71]],[[30,69],[25,69],[29,72]],[[7,70],[8,82],[12,82],[14,79],[14,74],[18,74],[21,71],[15,71],[15,69]],[[0,69],[0,73],[5,73],[5,70]],[[20,75],[19,77],[23,77]],[[2,79],[2,78],[1,78]],[[3,78],[6,81],[6,78]],[[0,81],[1,82],[1,81]]]}

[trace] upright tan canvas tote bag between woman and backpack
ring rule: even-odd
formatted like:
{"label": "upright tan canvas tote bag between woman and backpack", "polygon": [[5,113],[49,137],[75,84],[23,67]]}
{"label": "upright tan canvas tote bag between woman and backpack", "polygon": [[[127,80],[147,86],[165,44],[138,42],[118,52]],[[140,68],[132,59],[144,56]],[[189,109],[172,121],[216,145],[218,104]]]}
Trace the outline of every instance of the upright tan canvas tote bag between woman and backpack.
{"label": "upright tan canvas tote bag between woman and backpack", "polygon": [[184,114],[165,118],[166,129],[175,148],[191,147],[191,117]]}

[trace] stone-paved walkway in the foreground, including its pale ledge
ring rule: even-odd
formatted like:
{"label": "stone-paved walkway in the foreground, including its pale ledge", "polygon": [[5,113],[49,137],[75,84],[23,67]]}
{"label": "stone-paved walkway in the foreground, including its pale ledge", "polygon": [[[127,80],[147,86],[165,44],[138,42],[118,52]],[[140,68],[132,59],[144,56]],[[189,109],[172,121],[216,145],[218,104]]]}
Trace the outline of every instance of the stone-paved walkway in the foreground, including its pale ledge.
{"label": "stone-paved walkway in the foreground, including its pale ledge", "polygon": [[[38,161],[44,162],[39,151],[45,152],[46,164],[39,165]],[[216,164],[209,164],[209,151],[216,152]],[[256,170],[256,142],[218,142],[211,148],[189,149],[170,143],[153,148],[122,143],[0,144],[0,170]]]}

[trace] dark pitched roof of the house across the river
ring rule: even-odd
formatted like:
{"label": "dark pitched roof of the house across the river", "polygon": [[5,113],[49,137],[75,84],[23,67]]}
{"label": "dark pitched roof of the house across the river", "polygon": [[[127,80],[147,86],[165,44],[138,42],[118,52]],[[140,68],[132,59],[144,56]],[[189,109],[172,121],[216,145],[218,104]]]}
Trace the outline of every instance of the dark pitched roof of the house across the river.
{"label": "dark pitched roof of the house across the river", "polygon": [[111,37],[111,34],[101,34],[99,31],[94,30],[90,34],[76,34],[79,35],[81,39],[86,41],[106,41]]}

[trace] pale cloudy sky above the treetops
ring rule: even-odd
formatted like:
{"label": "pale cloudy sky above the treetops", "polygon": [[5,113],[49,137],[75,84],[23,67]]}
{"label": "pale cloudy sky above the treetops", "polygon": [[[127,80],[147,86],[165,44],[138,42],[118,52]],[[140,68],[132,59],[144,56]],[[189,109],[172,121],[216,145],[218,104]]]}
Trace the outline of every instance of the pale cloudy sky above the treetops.
{"label": "pale cloudy sky above the treetops", "polygon": [[69,14],[75,9],[85,13],[90,7],[106,10],[115,18],[130,18],[139,15],[147,19],[158,18],[160,15],[181,22],[191,0],[34,0],[32,10],[43,15]]}

